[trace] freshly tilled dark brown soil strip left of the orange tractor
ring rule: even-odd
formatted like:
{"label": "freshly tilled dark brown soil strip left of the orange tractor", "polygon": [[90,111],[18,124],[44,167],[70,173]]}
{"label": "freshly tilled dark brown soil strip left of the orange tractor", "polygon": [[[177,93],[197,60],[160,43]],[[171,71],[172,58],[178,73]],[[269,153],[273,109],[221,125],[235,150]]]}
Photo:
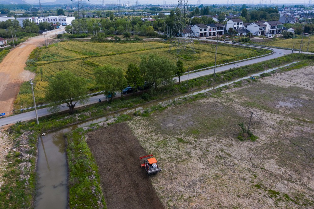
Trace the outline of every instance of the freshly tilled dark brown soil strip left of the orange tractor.
{"label": "freshly tilled dark brown soil strip left of the orange tractor", "polygon": [[98,165],[108,208],[163,208],[151,185],[154,175],[148,176],[139,166],[143,163],[139,158],[147,153],[127,124],[91,131],[87,143]]}

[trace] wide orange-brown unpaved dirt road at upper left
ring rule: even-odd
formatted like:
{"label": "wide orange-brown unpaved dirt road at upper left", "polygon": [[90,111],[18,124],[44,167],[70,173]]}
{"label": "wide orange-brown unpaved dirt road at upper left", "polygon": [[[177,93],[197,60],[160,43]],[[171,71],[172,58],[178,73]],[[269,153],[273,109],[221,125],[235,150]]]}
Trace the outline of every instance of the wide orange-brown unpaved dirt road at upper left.
{"label": "wide orange-brown unpaved dirt road at upper left", "polygon": [[[54,31],[48,33],[48,38],[54,36]],[[13,110],[14,100],[19,93],[20,85],[34,77],[33,73],[24,71],[25,62],[30,53],[45,43],[43,35],[32,37],[10,51],[0,63],[0,113]]]}

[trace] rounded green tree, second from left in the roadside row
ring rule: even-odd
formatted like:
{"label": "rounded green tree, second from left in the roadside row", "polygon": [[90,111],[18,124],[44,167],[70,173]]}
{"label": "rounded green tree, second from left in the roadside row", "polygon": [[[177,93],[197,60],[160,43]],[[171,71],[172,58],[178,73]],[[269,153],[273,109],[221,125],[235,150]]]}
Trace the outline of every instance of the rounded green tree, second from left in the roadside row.
{"label": "rounded green tree, second from left in the roadside row", "polygon": [[[111,94],[119,91],[121,92],[127,83],[123,70],[121,68],[112,67],[111,65],[96,68],[94,74],[96,82],[106,92],[111,92]],[[111,97],[111,101],[112,99],[113,96]]]}

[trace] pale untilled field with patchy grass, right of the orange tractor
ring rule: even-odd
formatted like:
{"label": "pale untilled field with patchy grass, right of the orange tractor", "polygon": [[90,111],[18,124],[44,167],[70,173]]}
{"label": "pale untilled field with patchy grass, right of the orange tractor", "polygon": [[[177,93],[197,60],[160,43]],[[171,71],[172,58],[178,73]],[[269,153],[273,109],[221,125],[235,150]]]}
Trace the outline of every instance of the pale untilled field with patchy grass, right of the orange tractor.
{"label": "pale untilled field with patchy grass, right of the orange tractor", "polygon": [[[276,76],[314,87],[313,72]],[[163,169],[152,184],[165,207],[313,208],[313,98],[313,88],[265,77],[127,124]],[[239,141],[251,111],[274,129],[253,116],[259,138]]]}

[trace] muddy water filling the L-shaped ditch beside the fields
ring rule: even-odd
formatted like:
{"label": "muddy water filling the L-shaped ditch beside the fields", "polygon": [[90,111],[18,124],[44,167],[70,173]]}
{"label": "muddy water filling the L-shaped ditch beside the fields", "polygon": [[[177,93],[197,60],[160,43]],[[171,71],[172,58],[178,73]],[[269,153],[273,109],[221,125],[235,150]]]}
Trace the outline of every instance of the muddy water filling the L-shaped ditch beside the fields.
{"label": "muddy water filling the L-shaped ditch beside the fields", "polygon": [[[292,62],[293,64],[296,62]],[[35,201],[36,209],[55,209],[55,208],[67,208],[68,206],[68,169],[67,169],[67,159],[65,154],[65,138],[64,133],[72,131],[78,127],[88,126],[92,123],[98,123],[100,121],[106,121],[113,117],[122,114],[132,114],[135,111],[143,110],[154,105],[168,104],[180,98],[196,95],[199,93],[205,93],[207,91],[213,90],[214,88],[223,87],[243,79],[250,78],[250,76],[258,76],[265,72],[271,72],[280,67],[289,66],[290,64],[279,66],[276,68],[271,68],[259,73],[252,73],[243,78],[237,78],[229,82],[220,83],[213,85],[211,87],[206,87],[192,91],[186,94],[180,94],[170,98],[158,100],[145,105],[139,105],[134,108],[129,108],[126,110],[119,111],[117,113],[106,115],[105,117],[100,117],[94,120],[89,120],[84,123],[80,123],[74,126],[68,126],[62,128],[58,131],[53,131],[46,133],[45,136],[39,138],[38,143],[38,162],[37,162],[37,174],[38,180],[38,190]]]}

